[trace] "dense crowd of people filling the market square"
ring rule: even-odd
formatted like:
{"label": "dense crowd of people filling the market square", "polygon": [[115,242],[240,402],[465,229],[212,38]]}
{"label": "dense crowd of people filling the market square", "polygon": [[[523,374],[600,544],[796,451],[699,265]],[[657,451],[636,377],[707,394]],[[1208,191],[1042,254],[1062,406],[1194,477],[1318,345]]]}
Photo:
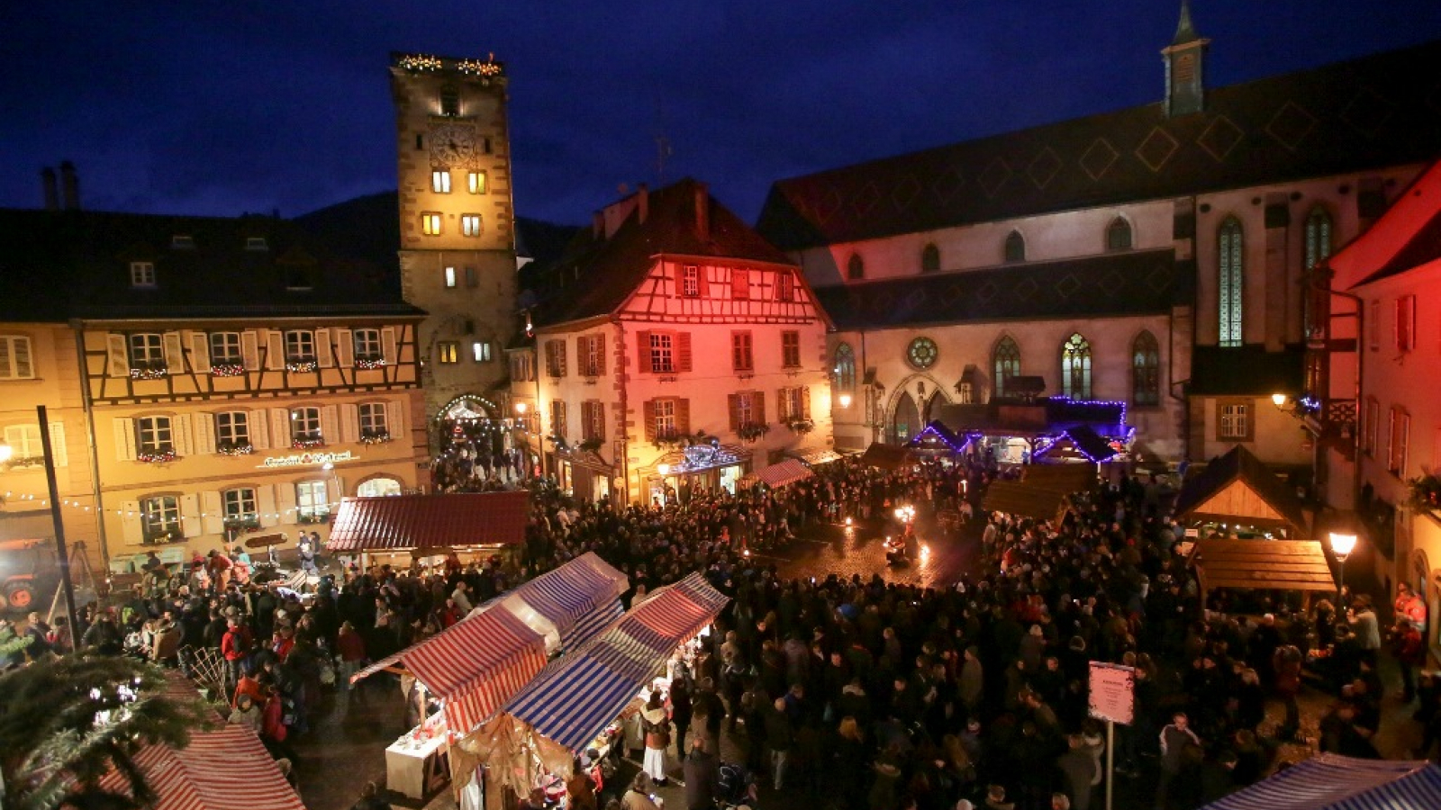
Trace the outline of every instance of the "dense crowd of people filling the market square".
{"label": "dense crowd of people filling the market square", "polygon": [[[463,477],[504,479],[499,468]],[[535,481],[516,558],[350,565],[304,598],[223,577],[167,579],[98,611],[84,643],[122,654],[122,628],[138,626],[133,654],[173,662],[183,649],[213,650],[232,722],[252,725],[294,762],[293,742],[308,732],[323,690],[365,700],[363,682],[349,685],[365,662],[589,551],[628,575],[627,604],[692,571],[732,597],[699,654],[673,662],[672,690],[651,706],[660,713],[647,713],[637,747],[660,749],[638,755],[648,780],[666,778],[667,751],[684,752],[692,809],[709,810],[710,770],[726,752],[769,787],[842,810],[1085,810],[1105,748],[1087,711],[1092,660],[1134,667],[1136,719],[1115,728],[1117,775],[1133,793],[1154,784],[1157,807],[1199,807],[1267,774],[1278,747],[1303,731],[1304,677],[1334,698],[1314,742],[1376,755],[1383,640],[1369,600],[1301,611],[1280,594],[1221,592],[1202,604],[1154,483],[1125,479],[1076,497],[1059,520],[987,515],[957,530],[976,520],[980,493],[1000,474],[994,464],[882,471],[842,460],[816,473],[778,490],[683,491],[628,506],[576,502]],[[879,572],[782,579],[762,562],[816,522],[875,528],[901,504],[915,506],[928,530],[978,542],[983,574],[918,588]],[[1441,683],[1409,675],[1425,605],[1399,597],[1388,636],[1412,664],[1402,698],[1418,703],[1429,754],[1441,736]],[[1272,702],[1284,706],[1278,724],[1265,719]],[[614,787],[599,798],[647,810],[646,790]]]}

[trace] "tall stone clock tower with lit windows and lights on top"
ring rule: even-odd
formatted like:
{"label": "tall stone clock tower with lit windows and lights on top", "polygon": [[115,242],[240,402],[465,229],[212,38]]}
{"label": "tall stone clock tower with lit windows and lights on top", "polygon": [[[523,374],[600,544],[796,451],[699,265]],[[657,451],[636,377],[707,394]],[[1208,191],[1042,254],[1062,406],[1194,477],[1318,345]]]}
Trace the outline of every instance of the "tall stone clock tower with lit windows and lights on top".
{"label": "tall stone clock tower with lit windows and lights on top", "polygon": [[514,206],[504,65],[391,55],[401,285],[419,329],[432,447],[447,411],[504,418],[516,320]]}

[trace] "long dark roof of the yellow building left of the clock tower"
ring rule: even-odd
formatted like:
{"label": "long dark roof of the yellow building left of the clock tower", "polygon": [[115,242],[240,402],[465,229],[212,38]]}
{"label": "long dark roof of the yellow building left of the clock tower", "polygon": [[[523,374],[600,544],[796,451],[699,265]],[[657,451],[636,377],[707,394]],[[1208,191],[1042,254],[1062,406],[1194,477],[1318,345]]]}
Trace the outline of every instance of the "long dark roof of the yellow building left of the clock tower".
{"label": "long dark roof of the yellow building left of the clock tower", "polygon": [[[7,209],[0,241],[9,320],[424,314],[401,300],[393,268],[339,258],[271,216]],[[153,288],[131,285],[135,261],[154,265]]]}

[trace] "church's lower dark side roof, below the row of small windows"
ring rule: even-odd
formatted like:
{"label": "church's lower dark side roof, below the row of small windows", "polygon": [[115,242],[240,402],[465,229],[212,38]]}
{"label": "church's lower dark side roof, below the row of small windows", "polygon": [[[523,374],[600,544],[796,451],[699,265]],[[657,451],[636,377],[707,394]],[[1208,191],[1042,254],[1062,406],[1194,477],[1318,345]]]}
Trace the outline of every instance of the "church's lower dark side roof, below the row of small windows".
{"label": "church's lower dark side roof, below the row of small windows", "polygon": [[837,329],[1169,313],[1190,298],[1174,252],[1134,251],[968,272],[820,287]]}

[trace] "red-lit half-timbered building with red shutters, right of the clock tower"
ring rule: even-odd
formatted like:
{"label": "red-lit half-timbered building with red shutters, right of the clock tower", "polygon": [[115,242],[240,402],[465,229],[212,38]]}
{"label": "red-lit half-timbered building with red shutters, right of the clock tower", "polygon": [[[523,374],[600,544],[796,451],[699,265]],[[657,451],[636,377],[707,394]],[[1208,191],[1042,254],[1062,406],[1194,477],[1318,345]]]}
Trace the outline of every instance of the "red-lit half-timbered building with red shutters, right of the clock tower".
{"label": "red-lit half-timbered building with red shutters, right of the clock tower", "polygon": [[510,353],[512,395],[579,497],[733,491],[830,444],[826,314],[703,183],[597,212],[522,300],[535,347]]}

